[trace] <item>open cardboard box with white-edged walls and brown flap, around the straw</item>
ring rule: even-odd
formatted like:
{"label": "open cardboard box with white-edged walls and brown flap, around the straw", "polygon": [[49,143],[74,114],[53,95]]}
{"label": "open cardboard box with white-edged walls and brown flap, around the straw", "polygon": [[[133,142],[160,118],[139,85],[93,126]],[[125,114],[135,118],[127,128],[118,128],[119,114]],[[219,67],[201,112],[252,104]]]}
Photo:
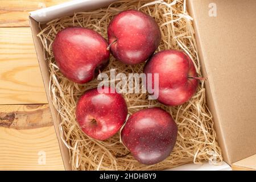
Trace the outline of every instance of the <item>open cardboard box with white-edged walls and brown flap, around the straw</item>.
{"label": "open cardboard box with white-edged walls and brown flap, around the straw", "polygon": [[[49,97],[48,65],[44,60],[43,46],[36,36],[40,32],[38,24],[78,11],[105,7],[113,1],[71,1],[30,14],[36,53],[67,170],[71,169],[68,148],[60,138],[59,118]],[[256,154],[256,2],[190,0],[187,6],[194,18],[201,69],[203,76],[208,78],[205,84],[207,102],[224,160],[230,165],[256,169],[256,155],[253,156]],[[187,164],[176,169],[229,170],[226,163],[222,166]]]}

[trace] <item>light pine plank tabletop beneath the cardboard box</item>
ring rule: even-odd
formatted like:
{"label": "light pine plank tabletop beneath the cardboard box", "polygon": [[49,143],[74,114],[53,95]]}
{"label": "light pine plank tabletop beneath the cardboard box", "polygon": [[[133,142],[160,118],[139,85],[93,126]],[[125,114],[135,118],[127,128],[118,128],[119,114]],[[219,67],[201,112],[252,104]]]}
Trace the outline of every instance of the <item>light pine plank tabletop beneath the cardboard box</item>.
{"label": "light pine plank tabletop beneath the cardboard box", "polygon": [[28,12],[66,1],[0,3],[0,170],[64,169]]}

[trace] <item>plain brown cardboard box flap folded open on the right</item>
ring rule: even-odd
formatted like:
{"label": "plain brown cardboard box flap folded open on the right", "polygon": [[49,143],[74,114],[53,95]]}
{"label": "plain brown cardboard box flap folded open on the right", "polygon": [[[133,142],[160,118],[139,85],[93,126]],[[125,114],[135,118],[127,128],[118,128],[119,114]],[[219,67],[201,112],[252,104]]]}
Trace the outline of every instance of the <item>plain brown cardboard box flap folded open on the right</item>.
{"label": "plain brown cardboard box flap folded open on the right", "polygon": [[190,0],[204,76],[224,159],[256,154],[256,1]]}

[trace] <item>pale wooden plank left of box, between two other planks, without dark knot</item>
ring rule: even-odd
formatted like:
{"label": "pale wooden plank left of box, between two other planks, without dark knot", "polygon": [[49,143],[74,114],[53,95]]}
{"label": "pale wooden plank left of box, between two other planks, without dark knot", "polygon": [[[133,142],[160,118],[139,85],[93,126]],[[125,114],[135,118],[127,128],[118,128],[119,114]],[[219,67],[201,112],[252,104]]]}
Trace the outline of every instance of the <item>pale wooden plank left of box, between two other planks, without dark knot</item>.
{"label": "pale wooden plank left of box, between two other planks, without dark knot", "polygon": [[0,104],[47,104],[31,30],[0,28]]}

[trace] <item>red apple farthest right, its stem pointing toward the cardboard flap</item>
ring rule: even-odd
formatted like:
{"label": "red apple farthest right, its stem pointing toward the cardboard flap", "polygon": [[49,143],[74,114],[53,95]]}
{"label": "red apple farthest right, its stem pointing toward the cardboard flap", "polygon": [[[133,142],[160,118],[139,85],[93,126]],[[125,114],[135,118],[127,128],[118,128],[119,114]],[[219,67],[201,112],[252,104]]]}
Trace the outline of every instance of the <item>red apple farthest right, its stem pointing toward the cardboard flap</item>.
{"label": "red apple farthest right, its stem pointing toward the cardboard flap", "polygon": [[[159,73],[158,101],[177,106],[187,102],[195,93],[199,80],[192,60],[182,51],[160,51],[144,66],[144,73]],[[154,86],[154,81],[152,81]]]}

